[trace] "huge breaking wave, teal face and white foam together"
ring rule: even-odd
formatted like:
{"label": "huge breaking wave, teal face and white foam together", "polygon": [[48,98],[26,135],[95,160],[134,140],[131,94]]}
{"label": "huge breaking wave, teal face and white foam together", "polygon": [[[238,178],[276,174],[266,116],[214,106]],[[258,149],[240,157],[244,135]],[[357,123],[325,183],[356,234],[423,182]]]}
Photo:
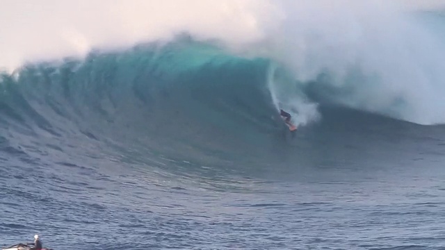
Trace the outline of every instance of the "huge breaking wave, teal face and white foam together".
{"label": "huge breaking wave, teal face and white foam together", "polygon": [[233,159],[289,150],[279,108],[310,144],[323,144],[317,136],[331,125],[445,122],[441,15],[385,9],[376,18],[375,6],[357,3],[341,19],[319,19],[309,3],[280,4],[298,15],[248,46],[191,33],[3,73],[3,148],[107,145]]}

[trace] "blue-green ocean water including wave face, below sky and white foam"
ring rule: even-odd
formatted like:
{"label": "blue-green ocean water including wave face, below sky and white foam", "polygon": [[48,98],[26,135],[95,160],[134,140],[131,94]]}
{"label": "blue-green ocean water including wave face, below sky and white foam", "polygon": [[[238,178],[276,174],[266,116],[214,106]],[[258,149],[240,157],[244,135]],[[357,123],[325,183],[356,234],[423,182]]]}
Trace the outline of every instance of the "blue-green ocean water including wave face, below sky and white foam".
{"label": "blue-green ocean water including wave face, below sky and white foam", "polygon": [[432,85],[393,88],[377,67],[338,84],[180,35],[3,72],[0,245],[445,249],[444,65],[430,62]]}

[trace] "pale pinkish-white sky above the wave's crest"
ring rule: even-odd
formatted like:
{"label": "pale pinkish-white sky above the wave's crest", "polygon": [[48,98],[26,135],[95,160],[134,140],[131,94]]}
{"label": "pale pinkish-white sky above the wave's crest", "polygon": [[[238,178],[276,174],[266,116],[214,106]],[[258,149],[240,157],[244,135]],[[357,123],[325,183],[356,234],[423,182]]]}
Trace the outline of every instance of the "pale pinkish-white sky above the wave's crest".
{"label": "pale pinkish-white sky above the wave's crest", "polygon": [[[30,60],[83,56],[93,47],[129,47],[142,41],[168,40],[181,31],[235,46],[249,44],[265,39],[283,19],[296,15],[280,8],[280,3],[293,2],[311,11],[325,11],[323,6],[331,5],[331,1],[2,0],[0,67],[13,69]],[[385,6],[389,3],[369,1]],[[445,0],[393,1],[402,3],[403,8],[445,5]],[[337,0],[337,6],[348,9],[355,2]],[[304,13],[304,8],[297,13]]]}

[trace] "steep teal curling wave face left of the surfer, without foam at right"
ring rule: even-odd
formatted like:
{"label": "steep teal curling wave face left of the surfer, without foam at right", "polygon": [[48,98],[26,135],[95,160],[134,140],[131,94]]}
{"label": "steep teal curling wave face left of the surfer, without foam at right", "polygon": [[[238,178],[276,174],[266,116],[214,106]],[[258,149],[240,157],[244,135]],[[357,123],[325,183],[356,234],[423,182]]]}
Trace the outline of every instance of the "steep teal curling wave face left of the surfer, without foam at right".
{"label": "steep teal curling wave face left of the surfer, without foam at right", "polygon": [[74,136],[174,158],[241,154],[282,125],[272,119],[269,67],[187,39],[27,65],[3,74],[2,124],[35,140]]}

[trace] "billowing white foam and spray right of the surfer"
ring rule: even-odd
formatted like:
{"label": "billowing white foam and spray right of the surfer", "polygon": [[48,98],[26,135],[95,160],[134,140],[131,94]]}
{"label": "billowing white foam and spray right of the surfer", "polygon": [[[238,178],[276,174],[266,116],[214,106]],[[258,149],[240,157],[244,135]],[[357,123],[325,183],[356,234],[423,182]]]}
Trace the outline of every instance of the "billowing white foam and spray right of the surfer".
{"label": "billowing white foam and spray right of the surfer", "polygon": [[371,0],[282,6],[287,18],[267,51],[300,82],[327,72],[331,87],[348,89],[332,97],[338,103],[419,124],[445,122],[445,42],[407,8]]}

